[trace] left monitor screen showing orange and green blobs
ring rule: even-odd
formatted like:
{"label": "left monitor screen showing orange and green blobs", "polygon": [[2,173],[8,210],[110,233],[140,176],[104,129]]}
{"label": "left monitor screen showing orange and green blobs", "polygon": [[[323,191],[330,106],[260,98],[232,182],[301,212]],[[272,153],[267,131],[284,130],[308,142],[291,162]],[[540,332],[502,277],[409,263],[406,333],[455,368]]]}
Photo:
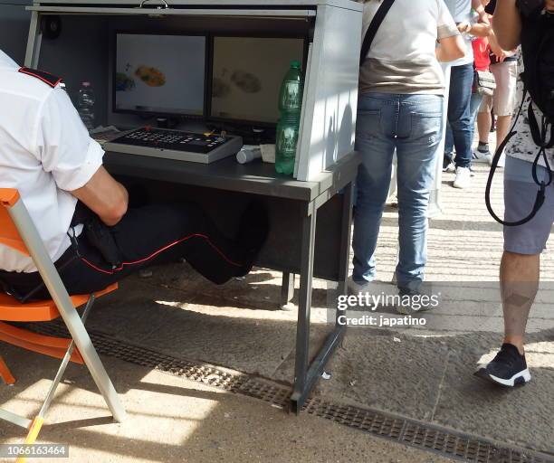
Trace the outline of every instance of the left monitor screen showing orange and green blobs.
{"label": "left monitor screen showing orange and green blobs", "polygon": [[205,36],[118,33],[114,110],[204,115]]}

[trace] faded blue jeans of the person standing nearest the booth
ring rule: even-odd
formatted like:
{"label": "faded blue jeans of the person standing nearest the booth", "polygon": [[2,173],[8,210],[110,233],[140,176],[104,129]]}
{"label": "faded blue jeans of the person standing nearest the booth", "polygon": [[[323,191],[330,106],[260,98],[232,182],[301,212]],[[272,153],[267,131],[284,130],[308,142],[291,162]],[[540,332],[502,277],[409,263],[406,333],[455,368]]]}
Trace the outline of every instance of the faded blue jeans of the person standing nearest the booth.
{"label": "faded blue jeans of the person standing nearest the booth", "polygon": [[358,170],[354,217],[354,274],[358,283],[376,278],[375,250],[396,148],[400,254],[399,288],[424,279],[427,205],[441,140],[443,97],[365,93],[358,101]]}

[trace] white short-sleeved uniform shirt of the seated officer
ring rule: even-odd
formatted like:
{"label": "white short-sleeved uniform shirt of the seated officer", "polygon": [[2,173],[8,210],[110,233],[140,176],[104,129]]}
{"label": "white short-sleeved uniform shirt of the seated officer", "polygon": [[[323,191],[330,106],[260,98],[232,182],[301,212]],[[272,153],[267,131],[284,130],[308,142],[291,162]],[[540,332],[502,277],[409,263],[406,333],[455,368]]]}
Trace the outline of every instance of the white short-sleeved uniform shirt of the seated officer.
{"label": "white short-sleeved uniform shirt of the seated officer", "polygon": [[[91,179],[104,152],[65,90],[18,70],[0,50],[0,187],[19,190],[55,262],[71,245],[77,199],[69,192]],[[36,271],[30,257],[2,244],[0,269]]]}

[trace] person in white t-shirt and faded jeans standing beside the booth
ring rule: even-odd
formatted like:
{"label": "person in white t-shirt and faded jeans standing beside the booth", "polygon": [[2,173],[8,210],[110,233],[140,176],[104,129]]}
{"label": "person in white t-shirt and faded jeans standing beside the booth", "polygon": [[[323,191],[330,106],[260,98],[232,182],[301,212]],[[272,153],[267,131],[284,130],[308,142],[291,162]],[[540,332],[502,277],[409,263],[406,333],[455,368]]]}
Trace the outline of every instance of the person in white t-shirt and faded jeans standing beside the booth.
{"label": "person in white t-shirt and faded jeans standing beside the booth", "polygon": [[[380,5],[378,0],[365,2],[364,35]],[[463,52],[462,37],[443,0],[396,0],[360,67],[356,145],[362,165],[351,291],[364,291],[376,278],[377,235],[395,149],[400,227],[396,279],[401,292],[417,290],[423,280],[427,205],[442,132],[444,75],[439,61],[458,59]]]}

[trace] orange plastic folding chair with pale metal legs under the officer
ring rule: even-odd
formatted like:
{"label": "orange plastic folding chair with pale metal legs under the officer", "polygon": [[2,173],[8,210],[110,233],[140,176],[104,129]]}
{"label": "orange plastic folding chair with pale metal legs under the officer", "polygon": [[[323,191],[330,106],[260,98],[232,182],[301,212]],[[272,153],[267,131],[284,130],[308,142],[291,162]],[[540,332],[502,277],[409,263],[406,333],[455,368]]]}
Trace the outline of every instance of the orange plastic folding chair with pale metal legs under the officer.
{"label": "orange plastic folding chair with pale metal legs under the officer", "polygon": [[[2,409],[0,409],[0,420],[8,420],[29,430],[24,443],[32,444],[38,437],[46,411],[53,401],[56,388],[70,361],[87,365],[114,419],[123,420],[125,411],[83,325],[94,300],[117,289],[117,284],[94,294],[70,297],[38,231],[36,231],[33,220],[19,193],[14,189],[0,188],[0,244],[31,256],[43,278],[44,285],[52,296],[52,299],[49,300],[21,303],[16,298],[0,291],[0,341],[62,359],[62,364],[53,379],[43,406],[33,420]],[[81,306],[85,306],[82,318],[79,317],[76,310],[76,307]],[[62,317],[65,322],[72,335],[71,339],[38,335],[24,328],[5,323],[44,322],[58,317]],[[0,377],[6,384],[15,383],[14,375],[10,372],[2,356],[0,356]],[[18,461],[23,462],[24,458],[18,458]]]}

